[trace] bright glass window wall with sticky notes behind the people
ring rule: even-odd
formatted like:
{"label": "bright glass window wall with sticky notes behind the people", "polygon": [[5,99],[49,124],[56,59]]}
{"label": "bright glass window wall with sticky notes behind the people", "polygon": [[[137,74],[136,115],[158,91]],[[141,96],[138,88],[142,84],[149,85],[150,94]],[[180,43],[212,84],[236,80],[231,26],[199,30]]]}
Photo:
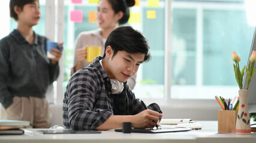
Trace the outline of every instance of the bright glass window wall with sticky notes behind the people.
{"label": "bright glass window wall with sticky notes behind the people", "polygon": [[[80,32],[97,29],[97,1],[40,0],[42,17],[35,32],[46,35],[46,26],[55,27],[53,41],[64,41],[60,62],[61,74],[55,83],[55,103],[62,97],[70,79],[74,59],[74,42]],[[8,13],[8,2],[1,1],[2,13]],[[214,101],[215,95],[233,98],[238,86],[234,77],[232,51],[246,64],[255,29],[253,0],[136,0],[130,8],[131,18],[125,26],[140,30],[148,39],[152,59],[143,63],[137,73],[133,92],[144,101],[161,105],[187,104],[190,101]],[[46,13],[49,7],[55,9]],[[47,9],[48,8],[48,9]],[[82,21],[71,14],[82,11]],[[0,27],[1,38],[16,28],[16,22],[1,15],[8,23]],[[48,24],[47,24],[48,23]],[[53,23],[53,24],[49,24]],[[59,28],[63,26],[62,28]],[[8,27],[8,29],[6,29]],[[60,37],[62,36],[62,40]],[[188,101],[188,102],[186,102]],[[209,102],[207,105],[215,105]]]}

